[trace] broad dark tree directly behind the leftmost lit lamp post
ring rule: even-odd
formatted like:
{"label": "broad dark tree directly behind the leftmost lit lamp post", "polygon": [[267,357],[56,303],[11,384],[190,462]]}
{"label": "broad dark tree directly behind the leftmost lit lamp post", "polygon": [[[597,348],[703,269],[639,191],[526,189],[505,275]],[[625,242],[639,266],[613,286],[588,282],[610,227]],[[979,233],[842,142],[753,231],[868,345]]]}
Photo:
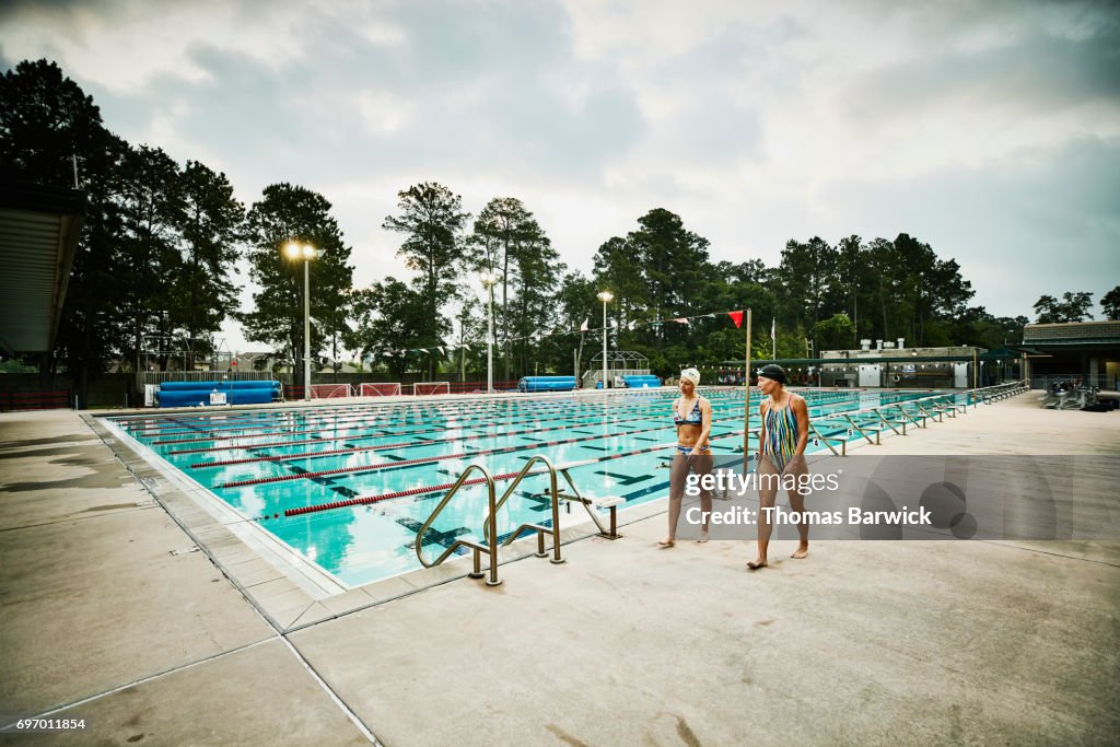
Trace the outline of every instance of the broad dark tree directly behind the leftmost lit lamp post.
{"label": "broad dark tree directly behind the leftmost lit lamp post", "polygon": [[[305,187],[274,184],[264,188],[260,202],[249,209],[249,276],[261,290],[253,296],[253,310],[237,315],[246,339],[269,343],[304,371],[304,267],[283,254],[291,241],[316,250],[310,260],[311,357],[323,342],[342,334],[348,311],[354,268],[347,264],[351,249],[330,203]],[[304,382],[305,385],[310,382]]]}

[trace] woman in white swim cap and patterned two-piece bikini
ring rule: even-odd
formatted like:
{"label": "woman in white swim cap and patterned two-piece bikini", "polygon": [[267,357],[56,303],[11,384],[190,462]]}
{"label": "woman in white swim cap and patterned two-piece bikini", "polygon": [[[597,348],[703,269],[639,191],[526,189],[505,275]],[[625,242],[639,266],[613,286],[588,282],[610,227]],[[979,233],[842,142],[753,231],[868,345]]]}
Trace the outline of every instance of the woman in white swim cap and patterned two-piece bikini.
{"label": "woman in white swim cap and patterned two-piece bikini", "polygon": [[[659,542],[662,548],[676,544],[676,521],[681,516],[684,484],[689,469],[697,477],[710,475],[713,466],[708,436],[711,433],[711,402],[697,393],[700,372],[685,368],[681,372],[681,399],[673,402],[673,423],[676,426],[676,449],[669,471],[669,536]],[[711,515],[711,491],[700,488],[700,511],[703,525],[697,542],[708,541],[708,516]]]}

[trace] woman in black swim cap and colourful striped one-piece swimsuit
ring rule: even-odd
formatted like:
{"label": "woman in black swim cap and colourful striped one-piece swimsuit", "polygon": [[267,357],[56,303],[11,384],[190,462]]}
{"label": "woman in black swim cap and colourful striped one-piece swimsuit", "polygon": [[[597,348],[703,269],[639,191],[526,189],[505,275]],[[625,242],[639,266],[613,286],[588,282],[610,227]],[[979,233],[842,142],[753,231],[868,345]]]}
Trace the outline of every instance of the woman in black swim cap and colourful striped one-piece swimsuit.
{"label": "woman in black swim cap and colourful striped one-piece swimsuit", "polygon": [[[763,429],[757,474],[758,474],[758,558],[747,563],[750,570],[766,568],[766,549],[769,544],[769,514],[762,511],[772,508],[777,498],[780,480],[783,475],[794,478],[806,473],[805,446],[809,443],[809,408],[805,399],[793,392],[785,391],[785,370],[776,364],[768,364],[758,371],[758,389],[769,399],[764,399],[758,408]],[[804,496],[796,488],[787,491],[790,506],[802,513],[805,510]],[[797,524],[801,543],[791,558],[804,558],[809,554],[809,524]]]}

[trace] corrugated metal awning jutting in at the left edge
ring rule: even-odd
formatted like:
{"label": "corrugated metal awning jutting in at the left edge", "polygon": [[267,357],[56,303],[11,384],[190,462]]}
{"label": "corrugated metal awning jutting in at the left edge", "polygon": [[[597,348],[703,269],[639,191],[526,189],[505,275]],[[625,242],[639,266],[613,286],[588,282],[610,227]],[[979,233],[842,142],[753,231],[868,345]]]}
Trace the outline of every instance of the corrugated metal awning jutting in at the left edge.
{"label": "corrugated metal awning jutting in at the left edge", "polygon": [[49,351],[58,332],[85,193],[0,179],[0,349]]}

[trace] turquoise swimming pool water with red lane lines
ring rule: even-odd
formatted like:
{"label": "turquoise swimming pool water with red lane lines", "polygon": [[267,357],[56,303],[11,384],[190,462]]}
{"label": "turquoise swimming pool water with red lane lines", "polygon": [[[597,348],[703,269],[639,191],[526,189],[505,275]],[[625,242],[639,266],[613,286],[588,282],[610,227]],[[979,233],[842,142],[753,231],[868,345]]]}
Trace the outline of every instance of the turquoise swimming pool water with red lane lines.
{"label": "turquoise swimming pool water with red lane lines", "polygon": [[[743,390],[702,393],[712,404],[717,465],[740,460]],[[916,412],[916,405],[905,403],[931,395],[927,390],[799,393],[809,401],[810,418],[822,436],[849,441],[862,437],[841,413],[895,402]],[[355,587],[420,567],[413,549],[417,530],[473,463],[498,478],[500,492],[503,480],[544,454],[557,467],[577,464],[570,475],[587,497],[620,496],[629,506],[665,496],[664,467],[675,440],[671,404],[678,395],[670,389],[452,395],[106,420],[244,521],[343,586]],[[753,409],[758,399],[755,392]],[[878,420],[867,413],[851,418],[860,426]],[[815,438],[810,443],[810,451],[825,448]],[[526,522],[550,524],[550,502],[538,495],[547,484],[547,475],[521,483],[498,516],[500,534]],[[464,487],[424,535],[424,545],[439,551],[456,539],[480,536],[485,501],[484,486]]]}

